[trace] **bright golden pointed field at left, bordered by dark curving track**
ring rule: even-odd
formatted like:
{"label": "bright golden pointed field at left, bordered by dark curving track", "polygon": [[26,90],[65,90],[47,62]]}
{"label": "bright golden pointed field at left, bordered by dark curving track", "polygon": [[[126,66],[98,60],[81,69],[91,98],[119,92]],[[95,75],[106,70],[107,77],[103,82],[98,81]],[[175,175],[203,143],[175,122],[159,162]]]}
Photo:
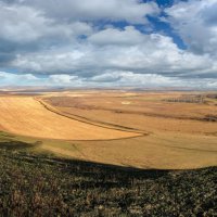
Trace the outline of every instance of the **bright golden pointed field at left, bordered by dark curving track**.
{"label": "bright golden pointed field at left, bordered by dark curving track", "polygon": [[138,136],[71,119],[44,108],[31,97],[0,98],[0,119],[10,132],[64,140],[105,140]]}

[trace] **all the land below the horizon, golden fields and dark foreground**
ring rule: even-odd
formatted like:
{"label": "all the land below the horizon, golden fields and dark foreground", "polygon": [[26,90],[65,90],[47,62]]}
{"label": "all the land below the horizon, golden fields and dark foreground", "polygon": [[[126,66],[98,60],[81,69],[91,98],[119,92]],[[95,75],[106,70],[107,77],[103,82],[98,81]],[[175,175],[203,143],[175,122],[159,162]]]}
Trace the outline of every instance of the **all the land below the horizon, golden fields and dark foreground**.
{"label": "all the land below the horizon, golden fields and dark foreground", "polygon": [[1,93],[0,214],[215,216],[216,105],[214,92]]}

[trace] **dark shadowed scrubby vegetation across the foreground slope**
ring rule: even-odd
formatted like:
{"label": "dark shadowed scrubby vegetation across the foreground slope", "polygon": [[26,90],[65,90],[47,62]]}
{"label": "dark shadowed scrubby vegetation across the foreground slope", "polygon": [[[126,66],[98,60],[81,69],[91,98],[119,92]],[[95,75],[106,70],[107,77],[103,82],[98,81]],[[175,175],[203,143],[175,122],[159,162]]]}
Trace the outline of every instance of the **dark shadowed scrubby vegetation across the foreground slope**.
{"label": "dark shadowed scrubby vegetation across the foreground slope", "polygon": [[217,167],[135,169],[0,141],[0,216],[216,216]]}

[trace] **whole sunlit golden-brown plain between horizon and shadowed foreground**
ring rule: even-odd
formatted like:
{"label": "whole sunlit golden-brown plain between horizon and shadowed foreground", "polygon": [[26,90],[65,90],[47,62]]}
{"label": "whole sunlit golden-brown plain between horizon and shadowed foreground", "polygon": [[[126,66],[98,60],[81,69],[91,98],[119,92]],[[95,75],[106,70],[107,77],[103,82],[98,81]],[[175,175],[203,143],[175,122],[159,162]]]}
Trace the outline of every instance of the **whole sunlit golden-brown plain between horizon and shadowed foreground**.
{"label": "whole sunlit golden-brown plain between horizon and shadowed foreground", "polygon": [[69,158],[141,168],[213,166],[215,94],[79,90],[1,95],[1,129]]}

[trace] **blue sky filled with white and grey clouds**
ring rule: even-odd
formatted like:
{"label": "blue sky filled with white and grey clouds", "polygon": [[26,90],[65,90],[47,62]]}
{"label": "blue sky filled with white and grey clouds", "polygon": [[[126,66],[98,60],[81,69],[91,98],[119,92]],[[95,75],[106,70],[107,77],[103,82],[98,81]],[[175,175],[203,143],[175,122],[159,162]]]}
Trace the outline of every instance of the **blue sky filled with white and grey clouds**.
{"label": "blue sky filled with white and grey clouds", "polygon": [[0,0],[0,86],[217,89],[217,0]]}

